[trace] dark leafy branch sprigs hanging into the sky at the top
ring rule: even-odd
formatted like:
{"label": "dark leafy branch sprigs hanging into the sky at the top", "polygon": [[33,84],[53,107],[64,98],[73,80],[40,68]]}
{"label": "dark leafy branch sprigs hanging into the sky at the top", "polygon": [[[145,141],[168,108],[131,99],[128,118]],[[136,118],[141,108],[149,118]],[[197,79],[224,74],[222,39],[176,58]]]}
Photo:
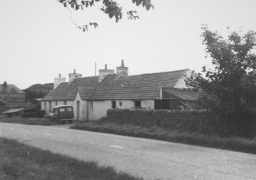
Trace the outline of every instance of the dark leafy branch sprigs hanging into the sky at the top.
{"label": "dark leafy branch sprigs hanging into the sky at the top", "polygon": [[[151,8],[154,8],[154,5],[151,4],[151,0],[131,0],[135,5],[139,6],[142,5],[142,7],[146,8],[147,11]],[[65,8],[73,8],[74,10],[83,10],[85,8],[90,8],[96,3],[100,3],[102,5],[102,8],[99,10],[102,11],[105,14],[109,15],[109,18],[115,18],[115,22],[118,22],[123,17],[122,7],[118,5],[117,2],[113,0],[58,0]],[[70,11],[71,13],[71,11]],[[137,15],[137,11],[127,11],[126,12],[128,19],[139,19]],[[75,24],[75,23],[73,23]],[[85,24],[83,26],[75,24],[76,27],[79,29],[82,29],[83,31],[88,31],[89,26],[98,27],[97,22],[89,22],[89,24]]]}

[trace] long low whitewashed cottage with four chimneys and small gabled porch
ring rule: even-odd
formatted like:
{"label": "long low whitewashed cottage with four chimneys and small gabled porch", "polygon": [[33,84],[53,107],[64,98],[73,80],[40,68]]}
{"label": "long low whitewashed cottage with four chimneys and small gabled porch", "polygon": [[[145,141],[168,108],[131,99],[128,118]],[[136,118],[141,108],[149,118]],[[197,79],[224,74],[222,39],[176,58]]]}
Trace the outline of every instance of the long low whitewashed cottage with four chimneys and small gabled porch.
{"label": "long low whitewashed cottage with four chimneys and small gabled porch", "polygon": [[186,87],[190,69],[128,76],[128,67],[99,70],[99,76],[82,78],[70,73],[69,82],[54,79],[54,89],[41,101],[47,113],[57,105],[72,105],[79,121],[98,120],[110,108],[194,109],[199,95]]}

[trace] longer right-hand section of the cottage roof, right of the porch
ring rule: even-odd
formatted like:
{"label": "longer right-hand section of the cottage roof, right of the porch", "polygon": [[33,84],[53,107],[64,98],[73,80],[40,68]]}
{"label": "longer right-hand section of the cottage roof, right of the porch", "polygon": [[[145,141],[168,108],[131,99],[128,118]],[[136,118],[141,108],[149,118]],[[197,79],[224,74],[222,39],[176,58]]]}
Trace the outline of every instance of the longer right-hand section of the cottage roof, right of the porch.
{"label": "longer right-hand section of the cottage roof, right of the porch", "polygon": [[135,76],[108,75],[97,85],[91,99],[158,99],[160,88],[173,88],[190,69]]}

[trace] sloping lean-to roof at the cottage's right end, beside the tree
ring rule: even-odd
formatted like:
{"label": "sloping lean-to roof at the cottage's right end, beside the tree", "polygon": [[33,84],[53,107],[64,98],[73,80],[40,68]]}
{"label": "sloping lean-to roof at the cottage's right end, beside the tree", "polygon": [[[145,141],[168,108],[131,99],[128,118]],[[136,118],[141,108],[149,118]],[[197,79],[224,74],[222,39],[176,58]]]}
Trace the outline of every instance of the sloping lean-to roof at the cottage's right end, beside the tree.
{"label": "sloping lean-to roof at the cottage's right end, beside the tree", "polygon": [[182,90],[182,89],[163,89],[165,92],[174,95],[185,101],[196,101],[199,98],[199,92],[193,92],[193,90]]}

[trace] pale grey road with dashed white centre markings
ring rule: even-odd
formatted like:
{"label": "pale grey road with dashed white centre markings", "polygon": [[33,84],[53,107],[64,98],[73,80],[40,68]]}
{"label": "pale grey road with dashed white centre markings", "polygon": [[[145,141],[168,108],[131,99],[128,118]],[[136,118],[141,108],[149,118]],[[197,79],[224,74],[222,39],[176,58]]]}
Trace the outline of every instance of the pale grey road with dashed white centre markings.
{"label": "pale grey road with dashed white centre markings", "polygon": [[0,137],[145,179],[256,179],[256,156],[60,127],[0,123]]}

